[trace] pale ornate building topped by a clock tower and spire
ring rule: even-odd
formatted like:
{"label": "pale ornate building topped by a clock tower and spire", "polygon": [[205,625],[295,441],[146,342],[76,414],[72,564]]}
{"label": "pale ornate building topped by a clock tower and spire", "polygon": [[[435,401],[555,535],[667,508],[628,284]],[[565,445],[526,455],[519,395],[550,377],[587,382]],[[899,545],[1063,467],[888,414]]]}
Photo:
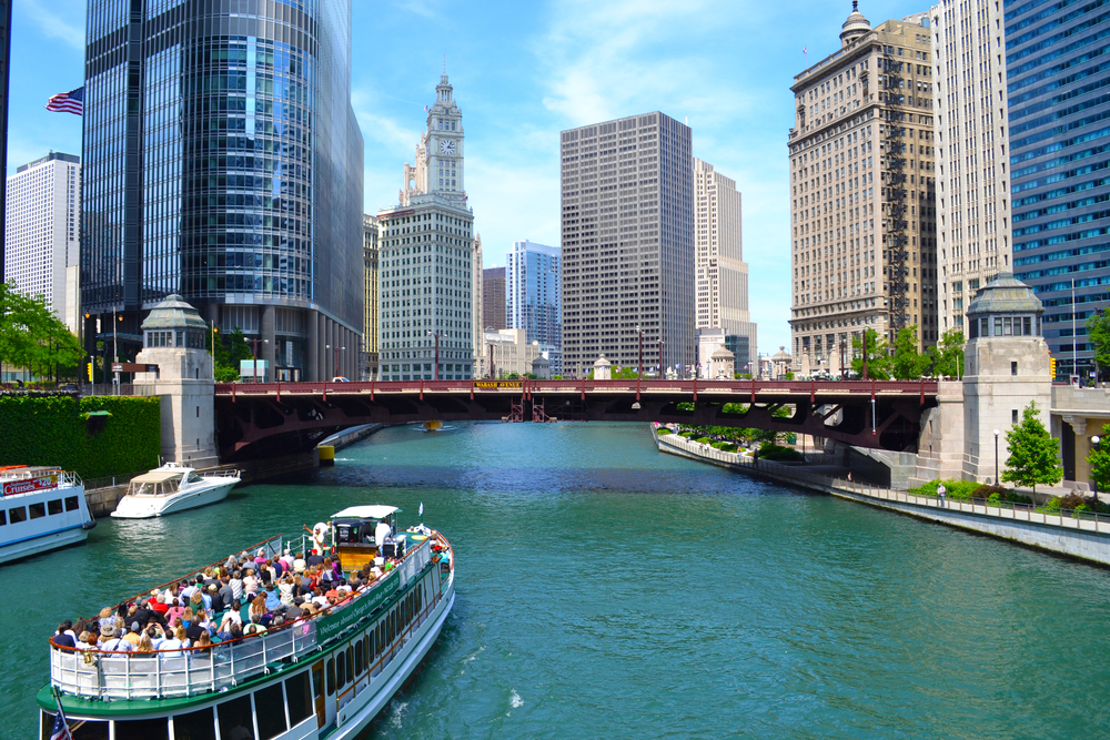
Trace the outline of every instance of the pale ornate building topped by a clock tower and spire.
{"label": "pale ornate building topped by a clock tower and spire", "polygon": [[474,213],[463,154],[463,112],[444,74],[416,163],[405,163],[401,203],[379,214],[383,381],[473,377]]}

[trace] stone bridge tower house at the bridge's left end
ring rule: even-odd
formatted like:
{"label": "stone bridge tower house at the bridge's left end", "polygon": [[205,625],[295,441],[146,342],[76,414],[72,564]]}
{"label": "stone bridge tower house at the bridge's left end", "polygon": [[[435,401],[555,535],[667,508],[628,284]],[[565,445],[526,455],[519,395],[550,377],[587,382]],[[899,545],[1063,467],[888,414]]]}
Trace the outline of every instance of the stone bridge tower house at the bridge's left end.
{"label": "stone bridge tower house at the bridge's left end", "polygon": [[195,308],[180,295],[167,296],[142,323],[143,348],[135,358],[159,368],[137,373],[135,384],[153,385],[162,398],[163,459],[196,468],[220,464],[208,332]]}

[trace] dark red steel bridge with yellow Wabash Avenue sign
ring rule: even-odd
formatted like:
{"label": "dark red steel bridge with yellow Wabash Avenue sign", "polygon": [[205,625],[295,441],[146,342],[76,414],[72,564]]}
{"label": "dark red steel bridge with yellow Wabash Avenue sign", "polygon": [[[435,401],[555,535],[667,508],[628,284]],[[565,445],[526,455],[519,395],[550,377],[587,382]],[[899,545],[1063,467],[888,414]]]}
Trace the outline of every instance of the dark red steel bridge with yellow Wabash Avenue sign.
{"label": "dark red steel bridge with yellow Wabash Avenue sign", "polygon": [[[430,420],[755,427],[916,452],[921,414],[936,404],[936,381],[225,383],[215,386],[215,424],[224,463],[307,452],[359,424]],[[774,416],[784,406],[791,415]]]}

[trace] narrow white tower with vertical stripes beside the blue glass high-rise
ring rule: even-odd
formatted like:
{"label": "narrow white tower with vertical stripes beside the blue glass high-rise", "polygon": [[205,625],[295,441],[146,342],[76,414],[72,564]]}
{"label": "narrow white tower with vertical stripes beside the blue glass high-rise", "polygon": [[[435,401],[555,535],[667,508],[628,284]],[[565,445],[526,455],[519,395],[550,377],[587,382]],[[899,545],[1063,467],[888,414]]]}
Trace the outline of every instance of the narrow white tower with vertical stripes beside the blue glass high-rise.
{"label": "narrow white tower with vertical stripes beside the blue glass high-rise", "polygon": [[940,330],[1010,271],[1006,64],[995,0],[944,0],[932,16]]}

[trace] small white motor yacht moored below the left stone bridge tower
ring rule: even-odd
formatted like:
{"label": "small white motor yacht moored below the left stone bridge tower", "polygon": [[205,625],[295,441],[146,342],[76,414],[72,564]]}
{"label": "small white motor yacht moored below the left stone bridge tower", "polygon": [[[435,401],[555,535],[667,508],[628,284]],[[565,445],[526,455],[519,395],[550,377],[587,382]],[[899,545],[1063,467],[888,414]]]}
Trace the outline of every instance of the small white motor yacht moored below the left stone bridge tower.
{"label": "small white motor yacht moored below the left stone bridge tower", "polygon": [[208,506],[228,498],[228,491],[241,479],[239,470],[211,470],[201,475],[194,468],[167,463],[131,478],[128,493],[112,516],[149,519]]}

